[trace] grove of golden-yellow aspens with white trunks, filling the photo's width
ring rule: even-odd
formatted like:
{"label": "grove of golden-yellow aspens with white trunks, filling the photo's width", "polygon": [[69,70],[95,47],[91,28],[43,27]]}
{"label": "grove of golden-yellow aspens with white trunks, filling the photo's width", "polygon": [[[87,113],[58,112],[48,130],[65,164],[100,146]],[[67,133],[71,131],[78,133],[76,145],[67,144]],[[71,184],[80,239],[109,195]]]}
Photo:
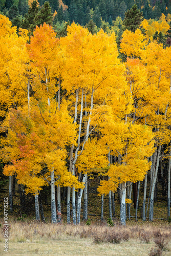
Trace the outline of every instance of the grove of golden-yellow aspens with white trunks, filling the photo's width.
{"label": "grove of golden-yellow aspens with white trunks, filling the photo's width", "polygon": [[[145,24],[144,24],[145,26]],[[146,25],[147,26],[147,25]],[[142,218],[153,221],[158,171],[167,180],[170,216],[171,47],[149,40],[140,29],[125,30],[118,57],[116,35],[102,29],[92,34],[72,23],[57,38],[46,23],[28,31],[12,27],[0,15],[1,160],[9,176],[35,197],[35,216],[43,214],[38,200],[51,187],[51,221],[61,221],[60,188],[67,187],[67,222],[88,219],[88,179],[101,177],[98,193],[120,195],[120,221],[130,219],[131,194],[144,181]],[[168,162],[167,176],[162,159]],[[146,202],[149,180],[149,206]],[[55,198],[57,190],[57,198]],[[77,191],[77,199],[76,199]],[[70,202],[72,196],[72,202]],[[57,200],[57,202],[56,202]],[[57,207],[57,208],[56,208]],[[72,220],[71,220],[72,209]],[[165,217],[166,218],[166,217]]]}

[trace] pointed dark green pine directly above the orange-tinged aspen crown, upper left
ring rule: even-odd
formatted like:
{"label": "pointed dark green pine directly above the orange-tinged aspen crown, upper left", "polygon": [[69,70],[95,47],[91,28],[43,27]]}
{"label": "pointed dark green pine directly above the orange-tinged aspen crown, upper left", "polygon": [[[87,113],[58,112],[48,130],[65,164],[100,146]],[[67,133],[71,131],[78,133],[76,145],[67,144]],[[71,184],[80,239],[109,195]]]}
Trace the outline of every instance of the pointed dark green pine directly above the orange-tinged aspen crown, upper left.
{"label": "pointed dark green pine directly above the orange-tinged aspen crown, upper left", "polygon": [[51,26],[53,25],[53,14],[49,2],[45,2],[40,11],[36,14],[33,22],[38,27],[44,23]]}

